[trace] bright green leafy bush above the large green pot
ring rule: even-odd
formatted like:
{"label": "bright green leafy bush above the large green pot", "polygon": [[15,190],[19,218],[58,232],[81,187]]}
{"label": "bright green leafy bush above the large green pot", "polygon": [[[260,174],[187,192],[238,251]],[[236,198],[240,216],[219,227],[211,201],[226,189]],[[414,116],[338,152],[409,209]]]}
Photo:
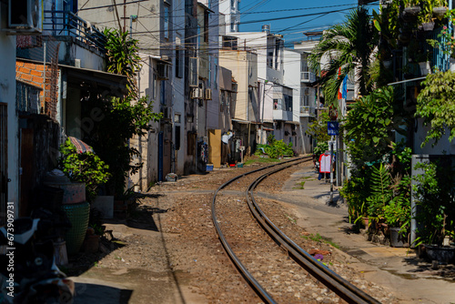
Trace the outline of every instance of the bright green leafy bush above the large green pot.
{"label": "bright green leafy bush above the large green pot", "polygon": [[92,202],[98,187],[106,183],[108,166],[93,152],[77,153],[76,147],[66,139],[60,147],[59,167],[71,181],[86,183],[86,200]]}

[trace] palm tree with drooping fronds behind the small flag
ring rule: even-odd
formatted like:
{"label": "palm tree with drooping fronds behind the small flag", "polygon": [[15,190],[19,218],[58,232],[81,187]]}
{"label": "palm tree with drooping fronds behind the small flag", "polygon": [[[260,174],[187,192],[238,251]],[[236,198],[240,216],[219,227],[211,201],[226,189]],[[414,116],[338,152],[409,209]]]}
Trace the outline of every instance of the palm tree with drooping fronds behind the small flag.
{"label": "palm tree with drooping fronds behind the small flag", "polygon": [[[324,31],[308,62],[321,75],[320,84],[329,104],[337,104],[339,86],[346,75],[355,76],[360,95],[371,90],[368,70],[378,45],[376,33],[373,19],[363,7],[350,11],[345,23]],[[321,64],[321,60],[328,62]]]}

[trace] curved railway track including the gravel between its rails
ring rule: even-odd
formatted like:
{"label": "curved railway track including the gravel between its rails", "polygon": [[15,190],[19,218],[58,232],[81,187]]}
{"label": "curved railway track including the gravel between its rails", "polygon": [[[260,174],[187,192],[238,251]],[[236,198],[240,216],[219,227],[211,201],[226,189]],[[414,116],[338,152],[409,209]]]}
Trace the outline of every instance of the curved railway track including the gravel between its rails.
{"label": "curved railway track including the gravel between its rails", "polygon": [[[314,279],[324,284],[328,289],[333,291],[336,296],[344,299],[348,303],[379,303],[378,300],[370,297],[361,289],[358,289],[346,279],[341,278],[331,269],[323,265],[317,259],[310,256],[305,250],[299,248],[298,245],[288,238],[281,230],[275,226],[266,214],[259,208],[256,199],[254,198],[254,189],[265,178],[273,176],[274,173],[285,168],[295,166],[298,163],[308,161],[310,157],[301,157],[282,162],[269,167],[262,167],[257,170],[252,170],[238,177],[228,180],[226,183],[217,188],[212,199],[212,220],[217,230],[218,238],[225,248],[227,255],[234,263],[238,271],[247,280],[249,286],[258,294],[258,297],[266,303],[277,303],[271,294],[278,295],[279,302],[288,302],[286,296],[281,295],[281,292],[274,291],[275,286],[280,284],[279,279],[294,281],[298,284],[298,279],[287,279],[287,273],[290,276],[297,278],[306,278],[311,275]],[[267,171],[260,175],[261,171]],[[254,176],[254,177],[253,177]],[[225,190],[236,185],[239,179],[249,179],[249,186],[244,192],[242,198],[248,205],[250,214],[245,213],[245,205],[235,195],[225,194]],[[242,184],[245,184],[242,181]],[[238,184],[240,184],[238,182]],[[237,211],[236,208],[243,208],[243,211]],[[245,222],[244,233],[247,236],[242,236],[239,228],[229,227],[229,216],[245,217],[242,222]],[[253,222],[253,218],[259,223],[262,231],[258,231],[258,225]],[[256,226],[256,227],[255,227]],[[267,236],[266,233],[267,232]],[[268,241],[264,239],[268,238]],[[270,238],[278,245],[273,244]],[[286,258],[275,257],[290,257],[292,261]],[[253,257],[253,258],[251,258]],[[273,257],[270,261],[266,260],[258,262],[257,257]],[[276,263],[273,259],[278,259]],[[255,260],[256,259],[256,260]],[[264,269],[264,264],[268,265]],[[300,267],[296,265],[298,264]],[[276,266],[274,266],[276,265]],[[274,268],[282,268],[275,270]],[[272,269],[273,268],[273,269]],[[303,270],[304,269],[304,270]],[[276,273],[279,272],[280,275]],[[274,275],[275,274],[275,275]],[[284,274],[284,275],[283,275]],[[271,278],[268,278],[271,277]],[[283,277],[283,278],[277,278]],[[303,282],[302,282],[303,283]],[[288,289],[293,289],[288,287]]]}

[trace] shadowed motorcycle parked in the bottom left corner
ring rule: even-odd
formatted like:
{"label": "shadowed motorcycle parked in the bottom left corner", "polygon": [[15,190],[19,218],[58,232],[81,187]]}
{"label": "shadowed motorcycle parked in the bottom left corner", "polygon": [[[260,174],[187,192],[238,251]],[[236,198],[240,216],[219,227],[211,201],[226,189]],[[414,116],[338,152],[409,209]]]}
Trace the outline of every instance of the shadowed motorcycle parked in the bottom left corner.
{"label": "shadowed motorcycle parked in the bottom left corner", "polygon": [[0,228],[0,259],[6,266],[0,269],[0,303],[73,303],[75,284],[58,269],[54,256],[54,239],[71,224],[56,218],[40,209]]}

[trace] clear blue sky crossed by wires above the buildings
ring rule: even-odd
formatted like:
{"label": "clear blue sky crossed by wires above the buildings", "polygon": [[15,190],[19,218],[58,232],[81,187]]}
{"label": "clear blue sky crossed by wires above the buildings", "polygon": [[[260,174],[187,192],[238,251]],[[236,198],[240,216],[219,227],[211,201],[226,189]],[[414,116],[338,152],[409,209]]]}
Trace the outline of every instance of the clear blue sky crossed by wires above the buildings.
{"label": "clear blue sky crossed by wires above the buildings", "polygon": [[[299,41],[306,39],[305,31],[342,23],[357,5],[358,0],[241,0],[240,32],[260,32],[262,25],[270,25],[270,32],[284,35],[287,43]],[[378,11],[379,1],[369,7]]]}

